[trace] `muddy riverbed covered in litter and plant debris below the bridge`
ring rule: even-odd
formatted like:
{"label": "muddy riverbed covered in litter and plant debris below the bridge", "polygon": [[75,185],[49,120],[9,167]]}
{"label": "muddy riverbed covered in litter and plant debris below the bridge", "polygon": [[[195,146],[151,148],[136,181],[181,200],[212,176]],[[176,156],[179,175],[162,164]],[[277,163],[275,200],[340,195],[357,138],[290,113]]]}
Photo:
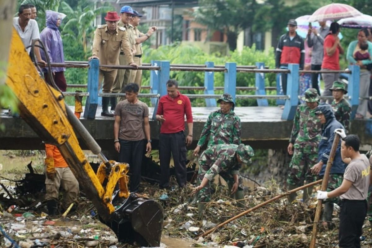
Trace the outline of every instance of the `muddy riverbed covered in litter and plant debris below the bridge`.
{"label": "muddy riverbed covered in litter and plant debris below the bridge", "polygon": [[[11,247],[10,239],[19,247],[131,247],[118,242],[112,230],[99,221],[93,204],[83,193],[78,210],[62,219],[61,216],[50,218],[46,214],[43,190],[31,194],[17,192],[17,181],[25,177],[28,172],[26,165],[30,161],[35,173],[42,173],[43,156],[37,152],[19,154],[0,151],[0,231],[3,231],[0,234],[0,247]],[[316,189],[308,204],[301,202],[302,191],[299,191],[292,204],[288,204],[286,197],[283,197],[200,237],[238,213],[285,193],[273,180],[261,186],[248,183],[250,187],[245,190],[246,208],[240,209],[228,197],[227,187],[222,186],[218,179],[216,182],[213,199],[207,204],[202,218],[198,218],[197,205],[192,204],[191,185],[178,189],[172,181],[174,187],[171,190],[160,190],[156,184],[141,183],[142,197],[155,199],[164,208],[161,247],[309,247],[317,203],[314,198]],[[8,192],[15,198],[13,202]],[[26,206],[18,206],[12,212],[7,212],[15,201]],[[319,226],[316,247],[338,247],[338,214],[339,207],[335,205],[333,225],[329,229]],[[368,220],[363,226],[363,236],[362,247],[371,247]]]}

